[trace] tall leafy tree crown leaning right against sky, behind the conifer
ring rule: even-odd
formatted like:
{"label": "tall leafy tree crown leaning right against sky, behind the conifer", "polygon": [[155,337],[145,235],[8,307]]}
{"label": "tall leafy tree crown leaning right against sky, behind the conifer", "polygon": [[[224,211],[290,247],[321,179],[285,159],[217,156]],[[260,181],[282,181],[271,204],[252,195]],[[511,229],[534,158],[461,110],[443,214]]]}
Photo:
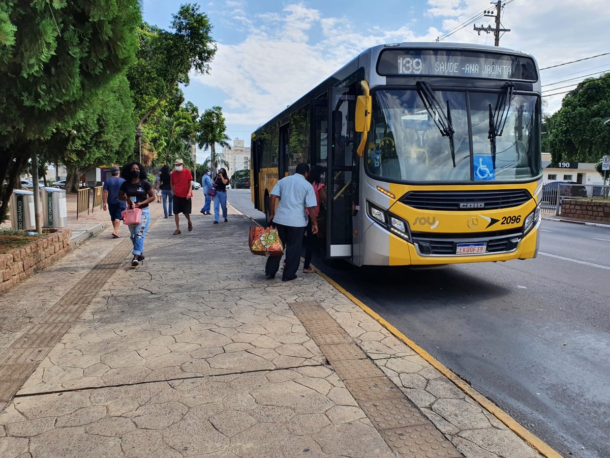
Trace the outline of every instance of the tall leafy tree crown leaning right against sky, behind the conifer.
{"label": "tall leafy tree crown leaning right against sky, behind the conifer", "polygon": [[140,49],[127,75],[137,103],[136,128],[142,127],[178,84],[188,84],[190,71],[209,73],[209,62],[216,53],[212,24],[198,5],[181,5],[170,29],[173,32],[144,23],[138,31]]}

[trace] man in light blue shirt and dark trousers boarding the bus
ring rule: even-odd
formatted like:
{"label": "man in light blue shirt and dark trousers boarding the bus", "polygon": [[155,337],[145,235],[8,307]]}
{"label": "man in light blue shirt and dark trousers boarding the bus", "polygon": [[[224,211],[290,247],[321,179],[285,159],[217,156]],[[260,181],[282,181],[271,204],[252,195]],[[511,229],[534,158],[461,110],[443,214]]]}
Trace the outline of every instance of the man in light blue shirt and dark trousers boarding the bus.
{"label": "man in light blue shirt and dark trousers boarding the bus", "polygon": [[[296,271],[301,262],[303,235],[308,222],[305,213],[306,208],[309,210],[312,234],[318,233],[318,221],[315,217],[318,200],[315,197],[314,187],[307,181],[308,174],[309,165],[301,162],[296,166],[294,175],[285,176],[271,190],[269,223],[278,228],[279,238],[284,244],[286,255],[282,282],[289,282],[296,278]],[[279,203],[276,209],[275,203],[278,198]],[[278,273],[280,261],[280,256],[269,256],[267,258],[265,277],[275,277],[275,274]]]}

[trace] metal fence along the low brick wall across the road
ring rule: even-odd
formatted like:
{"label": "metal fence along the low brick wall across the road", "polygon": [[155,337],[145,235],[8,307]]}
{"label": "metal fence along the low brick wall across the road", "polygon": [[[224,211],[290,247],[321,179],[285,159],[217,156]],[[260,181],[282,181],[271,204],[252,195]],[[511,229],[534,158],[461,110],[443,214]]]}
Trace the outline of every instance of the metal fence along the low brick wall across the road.
{"label": "metal fence along the low brick wall across the road", "polygon": [[610,202],[609,194],[610,186],[601,184],[547,183],[542,186],[540,211],[546,215],[560,216],[561,204],[566,199]]}

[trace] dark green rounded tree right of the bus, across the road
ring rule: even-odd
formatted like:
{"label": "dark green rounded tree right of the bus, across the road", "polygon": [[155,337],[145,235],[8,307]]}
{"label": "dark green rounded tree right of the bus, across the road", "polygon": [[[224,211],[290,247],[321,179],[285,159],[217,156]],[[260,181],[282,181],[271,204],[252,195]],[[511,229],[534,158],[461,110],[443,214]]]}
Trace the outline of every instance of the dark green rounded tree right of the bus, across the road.
{"label": "dark green rounded tree right of the bus, across the road", "polygon": [[589,78],[568,93],[561,109],[545,120],[545,149],[553,164],[597,163],[608,151],[610,129],[603,122],[610,115],[610,73]]}

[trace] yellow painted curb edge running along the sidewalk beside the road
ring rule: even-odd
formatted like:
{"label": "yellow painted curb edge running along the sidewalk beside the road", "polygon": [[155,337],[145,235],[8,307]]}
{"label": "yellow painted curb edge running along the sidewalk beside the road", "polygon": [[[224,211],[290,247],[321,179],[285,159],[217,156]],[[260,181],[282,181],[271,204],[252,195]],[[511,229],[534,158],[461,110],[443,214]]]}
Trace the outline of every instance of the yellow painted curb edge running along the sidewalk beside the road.
{"label": "yellow painted curb edge running along the sidewalk beside the road", "polygon": [[[313,266],[313,264],[312,264],[312,266]],[[427,351],[425,351],[422,347],[420,347],[414,341],[409,339],[406,335],[404,335],[402,332],[400,332],[398,329],[396,329],[393,325],[391,325],[389,322],[387,322],[384,318],[379,316],[379,314],[375,313],[375,311],[371,310],[361,300],[354,297],[353,294],[346,291],[346,289],[343,288],[341,285],[339,285],[339,283],[332,280],[332,278],[328,277],[328,275],[324,274],[323,272],[320,272],[319,269],[316,269],[316,270],[318,271],[318,275],[320,275],[320,277],[324,278],[328,283],[330,283],[332,286],[337,288],[341,293],[343,293],[346,297],[348,297],[348,299],[350,299],[351,302],[353,302],[358,307],[360,307],[362,310],[364,310],[365,313],[367,313],[369,316],[371,316],[371,318],[378,321],[379,324],[381,324],[384,328],[389,330],[389,332],[391,332],[395,337],[399,338],[401,341],[403,341],[405,344],[407,344],[409,347],[411,347],[411,349],[414,352],[416,352],[418,355],[420,355],[422,358],[424,358],[435,369],[437,369],[437,371],[439,371],[441,374],[443,374],[443,376],[445,376],[449,380],[451,380],[451,382],[453,382],[455,385],[457,385],[457,387],[460,388],[460,390],[464,391],[464,393],[466,393],[468,396],[470,396],[470,398],[472,398],[476,402],[478,402],[478,404],[481,405],[481,407],[483,407],[483,409],[486,409],[487,412],[491,413],[498,420],[500,420],[502,423],[504,423],[506,425],[506,427],[508,427],[508,429],[510,429],[512,432],[514,432],[520,438],[522,438],[526,443],[528,443],[532,448],[534,448],[534,450],[536,450],[542,456],[547,457],[547,458],[562,458],[562,456],[559,453],[554,451],[554,449],[552,449],[550,446],[548,446],[544,441],[542,441],[540,438],[536,437],[531,432],[529,432],[527,429],[525,429],[525,427],[523,427],[519,423],[517,423],[517,421],[514,420],[514,418],[512,418],[510,415],[508,415],[508,413],[504,412],[504,410],[500,409],[500,407],[493,404],[493,402],[489,401],[489,399],[487,399],[485,396],[483,396],[483,394],[478,393],[478,391],[476,391],[474,388],[472,388],[470,385],[468,385],[468,383],[464,382],[464,380],[462,380],[460,377],[458,377],[456,374],[454,374],[451,371],[451,369],[447,368],[447,366],[443,365],[443,363],[441,363],[439,360],[432,357],[431,354],[429,354]]]}

